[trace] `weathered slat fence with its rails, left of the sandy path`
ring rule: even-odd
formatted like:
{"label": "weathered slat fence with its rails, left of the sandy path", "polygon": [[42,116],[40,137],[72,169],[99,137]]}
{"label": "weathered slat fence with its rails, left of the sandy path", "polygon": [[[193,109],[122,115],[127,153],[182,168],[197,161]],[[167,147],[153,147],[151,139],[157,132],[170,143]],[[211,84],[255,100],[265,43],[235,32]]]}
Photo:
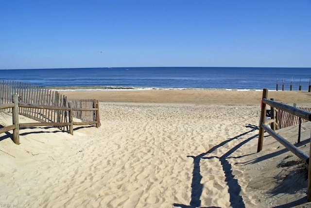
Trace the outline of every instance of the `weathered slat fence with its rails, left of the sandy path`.
{"label": "weathered slat fence with its rails, left of the sandy path", "polygon": [[[0,81],[0,110],[14,113],[16,109],[11,107],[12,95],[17,96],[18,114],[40,122],[31,125],[20,124],[20,127],[52,125],[72,134],[70,131],[72,125],[94,125],[97,128],[101,125],[97,100],[69,100],[51,89],[2,80]],[[0,130],[2,132],[5,129],[7,128]]]}

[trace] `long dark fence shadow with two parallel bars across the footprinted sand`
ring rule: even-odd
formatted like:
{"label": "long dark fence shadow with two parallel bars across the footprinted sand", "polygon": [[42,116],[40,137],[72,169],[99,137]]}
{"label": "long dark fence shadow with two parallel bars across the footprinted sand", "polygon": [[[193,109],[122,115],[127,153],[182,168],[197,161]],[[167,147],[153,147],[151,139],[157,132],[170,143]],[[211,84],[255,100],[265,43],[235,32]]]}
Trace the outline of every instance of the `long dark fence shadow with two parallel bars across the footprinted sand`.
{"label": "long dark fence shadow with two parallel bars across the footprinted sand", "polygon": [[[234,140],[234,139],[241,139],[242,136],[245,136],[253,131],[258,130],[258,127],[255,125],[251,125],[248,124],[246,125],[247,128],[251,128],[250,131],[248,132],[244,132],[241,135],[238,135],[234,138],[231,139],[227,139],[223,142],[221,142],[220,144],[212,147],[210,150],[208,150],[206,153],[202,153],[198,156],[187,156],[187,157],[191,157],[193,158],[193,172],[192,172],[192,183],[191,183],[191,201],[190,201],[190,205],[182,205],[182,204],[176,204],[174,203],[173,206],[174,207],[181,207],[181,208],[198,208],[201,206],[201,200],[200,197],[202,195],[202,191],[203,191],[203,185],[201,184],[201,179],[202,179],[202,175],[200,173],[200,161],[201,159],[211,159],[211,158],[218,158],[221,162],[221,165],[223,167],[223,171],[225,173],[225,181],[227,182],[228,185],[228,192],[230,195],[230,204],[231,207],[233,208],[244,208],[245,204],[243,202],[242,196],[239,194],[241,191],[241,186],[239,185],[239,182],[237,179],[234,178],[234,175],[232,174],[232,166],[231,164],[227,161],[227,158],[230,158],[229,156],[236,151],[237,149],[239,149],[242,145],[244,145],[245,143],[247,143],[248,141],[255,139],[258,137],[257,135],[254,135],[248,139],[243,140],[240,144],[236,145],[235,147],[233,147],[232,149],[230,149],[228,152],[226,152],[223,156],[217,157],[217,156],[210,156],[210,157],[205,157],[207,154],[210,154],[212,152],[214,152],[215,150],[217,150],[218,148],[224,146],[226,143]],[[245,155],[246,156],[246,155]],[[243,156],[239,156],[239,157],[243,157]],[[203,208],[203,207],[201,207]],[[208,208],[217,208],[217,207],[208,207]]]}

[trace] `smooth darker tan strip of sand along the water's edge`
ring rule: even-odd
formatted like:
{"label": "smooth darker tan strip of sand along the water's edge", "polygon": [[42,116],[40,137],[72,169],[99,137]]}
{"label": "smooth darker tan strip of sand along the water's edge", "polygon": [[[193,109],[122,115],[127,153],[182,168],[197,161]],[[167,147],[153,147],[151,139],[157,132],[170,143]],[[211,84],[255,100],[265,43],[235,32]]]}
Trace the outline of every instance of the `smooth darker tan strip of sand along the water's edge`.
{"label": "smooth darker tan strip of sand along the water's edge", "polygon": [[[97,99],[107,103],[184,103],[218,105],[259,105],[262,91],[238,90],[79,90],[61,91],[68,99]],[[268,98],[286,104],[310,104],[307,91],[269,91]]]}

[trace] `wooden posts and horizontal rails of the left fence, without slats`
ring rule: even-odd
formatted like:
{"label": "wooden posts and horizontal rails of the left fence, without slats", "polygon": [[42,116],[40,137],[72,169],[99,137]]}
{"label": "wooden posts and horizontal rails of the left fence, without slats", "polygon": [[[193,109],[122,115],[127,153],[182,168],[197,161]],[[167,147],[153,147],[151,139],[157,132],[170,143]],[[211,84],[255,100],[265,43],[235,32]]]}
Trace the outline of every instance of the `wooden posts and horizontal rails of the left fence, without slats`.
{"label": "wooden posts and horizontal rails of the left fence, without slats", "polygon": [[[19,128],[20,127],[33,127],[33,126],[67,126],[68,133],[73,135],[73,125],[89,125],[89,124],[96,124],[98,127],[98,121],[81,121],[81,122],[73,122],[73,112],[74,111],[96,111],[96,114],[99,112],[99,108],[72,108],[72,107],[60,107],[60,106],[50,106],[50,105],[36,105],[36,104],[20,104],[18,103],[18,95],[12,95],[11,104],[0,104],[0,109],[12,109],[12,125],[5,126],[0,128],[0,133],[4,133],[10,130],[13,130],[13,141],[16,144],[19,144]],[[41,109],[41,110],[60,110],[63,112],[68,112],[68,120],[61,121],[61,122],[32,122],[32,123],[19,123],[18,120],[18,111],[23,107],[29,107],[33,109]],[[97,117],[99,119],[99,117]]]}

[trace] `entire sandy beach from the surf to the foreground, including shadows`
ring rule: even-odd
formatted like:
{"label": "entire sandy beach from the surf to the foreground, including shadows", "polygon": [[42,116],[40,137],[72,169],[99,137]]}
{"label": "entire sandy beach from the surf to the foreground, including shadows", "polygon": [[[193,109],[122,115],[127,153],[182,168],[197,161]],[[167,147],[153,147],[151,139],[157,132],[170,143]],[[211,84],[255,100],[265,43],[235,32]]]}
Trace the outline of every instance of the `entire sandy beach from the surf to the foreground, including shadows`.
{"label": "entire sandy beach from the surf to the foreground, including shadows", "polygon": [[[257,153],[261,91],[60,91],[98,99],[100,128],[0,134],[0,203],[11,207],[310,207],[307,170],[266,135]],[[269,98],[311,106],[311,93]],[[0,112],[2,126],[11,115]],[[30,119],[20,116],[20,122]],[[299,149],[309,154],[310,122]],[[12,133],[12,132],[11,132]],[[295,143],[298,127],[279,130]]]}

